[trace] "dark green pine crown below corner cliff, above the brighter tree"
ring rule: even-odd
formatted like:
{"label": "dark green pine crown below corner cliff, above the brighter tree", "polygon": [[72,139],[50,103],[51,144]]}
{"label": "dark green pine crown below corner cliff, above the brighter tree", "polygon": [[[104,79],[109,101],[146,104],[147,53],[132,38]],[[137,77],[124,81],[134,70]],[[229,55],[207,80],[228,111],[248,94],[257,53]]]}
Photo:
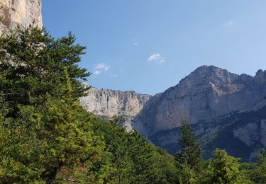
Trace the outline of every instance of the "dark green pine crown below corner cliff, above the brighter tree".
{"label": "dark green pine crown below corner cliff, above the brighter tree", "polygon": [[54,98],[64,98],[67,78],[73,98],[84,94],[86,88],[79,79],[86,79],[89,73],[77,63],[85,47],[74,42],[71,33],[55,40],[47,31],[38,28],[17,30],[0,38],[1,50],[9,53],[0,53],[1,96],[15,110],[13,115],[16,115],[18,104],[45,103],[47,93]]}

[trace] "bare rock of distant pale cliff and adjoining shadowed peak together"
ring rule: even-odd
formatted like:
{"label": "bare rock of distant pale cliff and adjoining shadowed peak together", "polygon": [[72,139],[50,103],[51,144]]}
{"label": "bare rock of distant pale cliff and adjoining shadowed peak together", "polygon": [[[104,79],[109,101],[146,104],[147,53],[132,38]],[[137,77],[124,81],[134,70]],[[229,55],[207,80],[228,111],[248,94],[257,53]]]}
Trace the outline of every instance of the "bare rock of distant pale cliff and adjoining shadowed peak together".
{"label": "bare rock of distant pale cliff and adjoining shadowed peak together", "polygon": [[266,71],[259,70],[255,76],[249,76],[202,66],[177,86],[152,98],[131,91],[92,88],[82,103],[89,112],[100,117],[125,117],[127,127],[132,124],[140,134],[149,137],[179,127],[182,120],[191,124],[209,122],[221,115],[260,105],[266,98],[265,84]]}

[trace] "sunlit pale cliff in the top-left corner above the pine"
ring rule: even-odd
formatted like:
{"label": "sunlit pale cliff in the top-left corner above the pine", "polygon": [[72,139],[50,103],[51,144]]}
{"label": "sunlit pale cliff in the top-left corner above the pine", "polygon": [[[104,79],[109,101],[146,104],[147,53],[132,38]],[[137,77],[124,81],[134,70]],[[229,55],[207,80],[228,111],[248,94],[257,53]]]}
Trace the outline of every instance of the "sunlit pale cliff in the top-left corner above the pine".
{"label": "sunlit pale cliff in the top-left corner above the pine", "polygon": [[33,20],[41,27],[41,0],[0,0],[0,33],[8,28],[28,27]]}

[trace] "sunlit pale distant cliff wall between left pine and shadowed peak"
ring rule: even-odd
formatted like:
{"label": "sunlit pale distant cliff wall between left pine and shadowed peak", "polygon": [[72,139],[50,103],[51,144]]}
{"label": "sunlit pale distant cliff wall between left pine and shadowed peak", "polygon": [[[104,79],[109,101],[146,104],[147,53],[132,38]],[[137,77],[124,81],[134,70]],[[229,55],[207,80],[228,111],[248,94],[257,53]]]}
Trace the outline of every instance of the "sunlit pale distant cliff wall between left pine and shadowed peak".
{"label": "sunlit pale distant cliff wall between left pine and shadowed peak", "polygon": [[90,88],[88,96],[81,98],[82,105],[90,113],[110,119],[121,117],[121,123],[127,131],[131,131],[131,120],[151,98],[149,95],[138,94],[135,91],[113,91]]}

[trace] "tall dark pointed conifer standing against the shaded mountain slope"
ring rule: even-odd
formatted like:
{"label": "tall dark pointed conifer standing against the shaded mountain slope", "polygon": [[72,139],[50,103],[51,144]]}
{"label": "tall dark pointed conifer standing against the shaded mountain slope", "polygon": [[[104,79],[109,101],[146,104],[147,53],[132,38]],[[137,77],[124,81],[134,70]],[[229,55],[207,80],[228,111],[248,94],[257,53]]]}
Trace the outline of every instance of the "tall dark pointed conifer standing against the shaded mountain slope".
{"label": "tall dark pointed conifer standing against the shaded mountain slope", "polygon": [[196,140],[196,136],[187,121],[182,122],[182,136],[179,144],[181,150],[175,154],[177,163],[181,166],[186,163],[190,168],[195,171],[201,169],[202,156],[201,156],[201,146]]}

